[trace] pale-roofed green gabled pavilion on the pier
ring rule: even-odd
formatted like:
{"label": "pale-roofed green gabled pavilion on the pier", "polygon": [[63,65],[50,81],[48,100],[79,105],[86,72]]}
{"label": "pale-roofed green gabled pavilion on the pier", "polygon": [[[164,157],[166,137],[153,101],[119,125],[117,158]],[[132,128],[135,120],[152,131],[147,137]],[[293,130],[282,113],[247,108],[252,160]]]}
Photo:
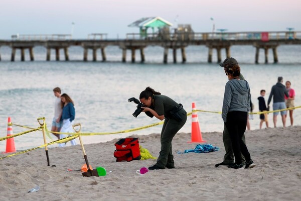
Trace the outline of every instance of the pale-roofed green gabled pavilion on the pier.
{"label": "pale-roofed green gabled pavilion on the pier", "polygon": [[[173,24],[160,18],[160,17],[148,17],[148,18],[141,18],[130,25],[128,27],[138,27],[140,37],[147,37],[147,29],[152,28],[153,34],[156,33],[155,29],[157,28],[157,32],[159,35],[169,36],[169,28],[172,27]],[[161,34],[160,34],[161,33]],[[164,33],[164,34],[162,34]],[[165,38],[163,36],[163,38]]]}

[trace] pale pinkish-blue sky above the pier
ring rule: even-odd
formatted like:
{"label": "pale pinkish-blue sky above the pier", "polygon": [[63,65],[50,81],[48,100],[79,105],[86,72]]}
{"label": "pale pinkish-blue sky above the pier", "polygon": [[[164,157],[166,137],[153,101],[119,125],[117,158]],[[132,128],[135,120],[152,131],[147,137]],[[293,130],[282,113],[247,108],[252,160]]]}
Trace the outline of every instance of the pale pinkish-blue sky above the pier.
{"label": "pale pinkish-blue sky above the pier", "polygon": [[[300,0],[0,0],[0,40],[16,34],[91,33],[109,39],[138,33],[128,27],[142,17],[161,17],[194,32],[301,31]],[[211,20],[213,18],[213,20]]]}

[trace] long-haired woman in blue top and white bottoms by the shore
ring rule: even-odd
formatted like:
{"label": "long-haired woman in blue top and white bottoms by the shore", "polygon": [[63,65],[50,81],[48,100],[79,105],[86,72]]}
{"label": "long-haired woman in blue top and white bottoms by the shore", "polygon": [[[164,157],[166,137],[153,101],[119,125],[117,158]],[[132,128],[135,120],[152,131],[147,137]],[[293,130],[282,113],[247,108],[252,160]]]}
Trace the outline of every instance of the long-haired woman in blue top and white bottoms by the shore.
{"label": "long-haired woman in blue top and white bottoms by the shore", "polygon": [[[61,128],[61,133],[73,133],[72,124],[73,120],[75,119],[75,109],[73,100],[70,96],[66,93],[61,95],[61,102],[62,102],[62,116],[61,121],[63,121],[63,126]],[[66,134],[60,134],[60,139],[67,137]],[[70,135],[69,135],[70,136]],[[71,145],[76,145],[75,139],[71,140]],[[64,147],[66,143],[59,144],[60,147]]]}

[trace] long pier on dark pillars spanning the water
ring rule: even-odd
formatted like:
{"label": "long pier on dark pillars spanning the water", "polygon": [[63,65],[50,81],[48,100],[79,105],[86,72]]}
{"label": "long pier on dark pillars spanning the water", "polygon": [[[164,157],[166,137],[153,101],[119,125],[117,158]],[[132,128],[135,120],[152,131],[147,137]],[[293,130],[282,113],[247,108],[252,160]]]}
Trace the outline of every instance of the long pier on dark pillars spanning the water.
{"label": "long pier on dark pillars spanning the water", "polygon": [[[121,61],[126,62],[127,50],[131,52],[131,62],[136,62],[136,50],[140,52],[140,62],[146,60],[144,48],[147,46],[163,47],[163,63],[168,62],[169,49],[173,50],[173,62],[177,63],[177,51],[181,51],[182,62],[187,61],[185,48],[188,46],[206,46],[208,48],[208,62],[212,63],[213,50],[216,50],[217,61],[221,62],[221,51],[225,50],[226,57],[231,57],[231,46],[248,45],[255,47],[255,63],[259,60],[259,50],[264,49],[264,61],[268,63],[268,50],[272,49],[273,62],[278,62],[277,47],[280,45],[301,45],[301,32],[223,32],[223,33],[171,33],[146,34],[128,33],[125,39],[107,39],[107,34],[89,34],[88,39],[72,39],[70,34],[52,35],[14,35],[12,40],[0,40],[1,46],[12,48],[11,61],[15,61],[16,50],[21,52],[21,61],[25,61],[28,50],[30,61],[34,61],[36,46],[47,49],[46,61],[50,61],[51,49],[56,52],[55,59],[60,60],[60,49],[64,50],[65,61],[69,61],[68,48],[81,46],[83,61],[88,61],[88,50],[92,50],[92,61],[97,61],[97,50],[100,49],[102,61],[106,61],[105,48],[117,46],[122,50]],[[1,61],[1,52],[0,52]],[[201,62],[201,61],[200,61]]]}

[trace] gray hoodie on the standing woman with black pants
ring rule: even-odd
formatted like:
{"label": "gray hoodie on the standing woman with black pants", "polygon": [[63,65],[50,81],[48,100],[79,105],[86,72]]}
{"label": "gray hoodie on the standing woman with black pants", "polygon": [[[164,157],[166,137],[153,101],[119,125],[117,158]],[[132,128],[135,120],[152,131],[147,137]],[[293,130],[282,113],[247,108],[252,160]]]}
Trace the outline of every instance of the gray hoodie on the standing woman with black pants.
{"label": "gray hoodie on the standing woman with black pants", "polygon": [[250,110],[250,87],[246,80],[231,79],[226,83],[222,118],[227,122],[231,111],[248,112]]}

